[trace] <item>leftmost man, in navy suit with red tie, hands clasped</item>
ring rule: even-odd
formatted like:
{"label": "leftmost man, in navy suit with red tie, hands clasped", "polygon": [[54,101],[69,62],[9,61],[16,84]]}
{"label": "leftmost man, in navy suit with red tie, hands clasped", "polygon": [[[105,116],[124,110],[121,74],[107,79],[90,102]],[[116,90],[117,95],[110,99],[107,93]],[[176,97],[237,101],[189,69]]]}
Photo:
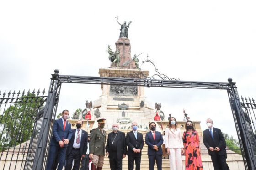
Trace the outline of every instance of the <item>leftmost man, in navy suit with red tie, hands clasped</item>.
{"label": "leftmost man, in navy suit with red tie, hands clasped", "polygon": [[63,110],[62,118],[54,121],[46,170],[52,170],[57,155],[59,163],[58,170],[62,170],[64,166],[66,150],[72,137],[71,124],[67,121],[68,117],[69,111]]}

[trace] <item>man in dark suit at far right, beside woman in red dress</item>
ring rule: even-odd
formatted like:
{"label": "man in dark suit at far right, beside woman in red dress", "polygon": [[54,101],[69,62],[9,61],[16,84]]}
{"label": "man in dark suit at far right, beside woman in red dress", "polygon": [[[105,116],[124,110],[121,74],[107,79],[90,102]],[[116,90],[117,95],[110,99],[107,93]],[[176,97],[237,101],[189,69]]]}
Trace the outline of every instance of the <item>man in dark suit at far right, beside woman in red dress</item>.
{"label": "man in dark suit at far right, beside woman in red dress", "polygon": [[203,131],[203,144],[211,156],[214,170],[227,170],[226,164],[226,141],[220,129],[213,128],[213,120],[206,120],[208,129]]}

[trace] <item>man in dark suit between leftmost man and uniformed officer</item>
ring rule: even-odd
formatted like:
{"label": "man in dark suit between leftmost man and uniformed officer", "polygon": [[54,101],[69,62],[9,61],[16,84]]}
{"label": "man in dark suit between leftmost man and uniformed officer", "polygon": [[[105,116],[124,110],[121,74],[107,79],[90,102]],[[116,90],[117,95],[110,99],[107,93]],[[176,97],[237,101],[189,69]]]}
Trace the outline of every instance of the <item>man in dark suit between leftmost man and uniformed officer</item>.
{"label": "man in dark suit between leftmost man and uniformed officer", "polygon": [[83,121],[78,120],[76,122],[76,128],[72,130],[72,138],[67,149],[67,162],[65,170],[71,170],[72,161],[74,160],[74,166],[72,170],[79,170],[81,158],[85,157],[87,151],[88,134],[85,130],[82,130]]}

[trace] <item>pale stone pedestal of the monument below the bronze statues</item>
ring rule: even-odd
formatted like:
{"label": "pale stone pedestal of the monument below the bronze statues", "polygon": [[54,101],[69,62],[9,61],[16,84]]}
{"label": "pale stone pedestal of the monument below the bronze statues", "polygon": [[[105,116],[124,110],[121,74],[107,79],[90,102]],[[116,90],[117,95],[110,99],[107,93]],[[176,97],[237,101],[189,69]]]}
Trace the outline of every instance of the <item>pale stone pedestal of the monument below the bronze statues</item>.
{"label": "pale stone pedestal of the monument below the bronze statues", "polygon": [[[126,56],[127,57],[127,56]],[[128,56],[129,57],[129,56]],[[138,69],[100,68],[101,77],[145,78],[149,71]],[[106,118],[106,128],[111,129],[113,123],[119,123],[122,129],[128,129],[133,121],[145,128],[149,120],[154,119],[153,104],[147,101],[142,86],[101,85],[102,95],[93,102],[92,119],[96,108],[100,118]]]}

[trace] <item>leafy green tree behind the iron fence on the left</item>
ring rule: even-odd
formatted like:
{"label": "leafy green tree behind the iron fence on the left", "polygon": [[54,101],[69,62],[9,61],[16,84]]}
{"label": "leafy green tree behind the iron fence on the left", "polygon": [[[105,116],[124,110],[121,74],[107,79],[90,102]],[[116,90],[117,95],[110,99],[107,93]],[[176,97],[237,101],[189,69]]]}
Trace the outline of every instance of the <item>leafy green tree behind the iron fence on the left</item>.
{"label": "leafy green tree behind the iron fence on the left", "polygon": [[29,93],[17,98],[16,103],[0,115],[0,149],[14,147],[32,136],[37,111],[43,108],[43,98]]}

